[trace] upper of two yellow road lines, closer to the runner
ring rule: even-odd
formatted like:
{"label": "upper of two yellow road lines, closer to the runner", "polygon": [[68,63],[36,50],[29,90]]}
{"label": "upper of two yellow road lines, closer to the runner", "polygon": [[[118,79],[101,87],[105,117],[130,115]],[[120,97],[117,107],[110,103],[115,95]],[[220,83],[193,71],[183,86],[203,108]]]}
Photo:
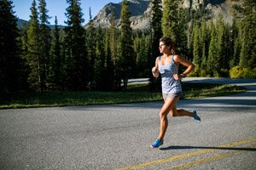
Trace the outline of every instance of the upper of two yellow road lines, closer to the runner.
{"label": "upper of two yellow road lines, closer to the runner", "polygon": [[[216,148],[220,148],[220,149],[229,148],[229,147],[233,147],[233,146],[237,146],[237,145],[241,145],[241,144],[247,144],[247,143],[251,143],[251,142],[256,142],[256,138],[243,139],[240,141],[232,142],[230,144],[222,144],[222,145],[217,146]],[[149,162],[133,165],[130,167],[120,167],[120,168],[117,168],[117,170],[140,169],[140,168],[149,167],[149,166],[166,163],[166,162],[170,162],[170,161],[181,160],[181,159],[192,157],[192,156],[199,156],[199,155],[207,154],[207,153],[213,152],[214,150],[218,150],[218,149],[206,149],[206,150],[193,151],[193,152],[186,153],[183,155],[172,156],[172,157],[168,157],[168,158],[160,159],[160,160],[156,160],[156,161],[149,161]]]}

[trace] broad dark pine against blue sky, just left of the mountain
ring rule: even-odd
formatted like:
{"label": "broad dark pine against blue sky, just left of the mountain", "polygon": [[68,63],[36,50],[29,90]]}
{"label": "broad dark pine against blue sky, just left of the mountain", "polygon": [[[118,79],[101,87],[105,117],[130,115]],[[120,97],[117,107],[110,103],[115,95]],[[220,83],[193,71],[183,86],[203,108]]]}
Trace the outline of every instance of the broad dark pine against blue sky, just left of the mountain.
{"label": "broad dark pine against blue sky, just left of the mountain", "polygon": [[65,28],[65,72],[69,90],[84,90],[89,80],[89,65],[82,26],[82,12],[79,0],[67,0],[67,27]]}

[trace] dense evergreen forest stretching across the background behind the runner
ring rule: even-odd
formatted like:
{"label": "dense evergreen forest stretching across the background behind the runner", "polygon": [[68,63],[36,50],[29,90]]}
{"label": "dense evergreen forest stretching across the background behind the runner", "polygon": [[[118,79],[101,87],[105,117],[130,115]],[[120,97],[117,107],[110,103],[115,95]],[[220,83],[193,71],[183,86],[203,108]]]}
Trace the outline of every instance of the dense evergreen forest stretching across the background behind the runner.
{"label": "dense evergreen forest stretching across the background behind the runner", "polygon": [[[151,68],[160,37],[172,37],[176,53],[194,62],[191,77],[256,78],[256,1],[232,8],[232,25],[207,19],[204,8],[179,8],[179,0],[152,0],[151,25],[132,30],[123,0],[121,26],[95,27],[84,19],[80,0],[67,0],[65,28],[49,28],[45,0],[32,0],[29,24],[18,29],[11,0],[0,0],[0,94],[26,91],[119,91],[128,79],[159,80]],[[90,10],[89,10],[90,11]],[[183,68],[181,68],[183,69]]]}

